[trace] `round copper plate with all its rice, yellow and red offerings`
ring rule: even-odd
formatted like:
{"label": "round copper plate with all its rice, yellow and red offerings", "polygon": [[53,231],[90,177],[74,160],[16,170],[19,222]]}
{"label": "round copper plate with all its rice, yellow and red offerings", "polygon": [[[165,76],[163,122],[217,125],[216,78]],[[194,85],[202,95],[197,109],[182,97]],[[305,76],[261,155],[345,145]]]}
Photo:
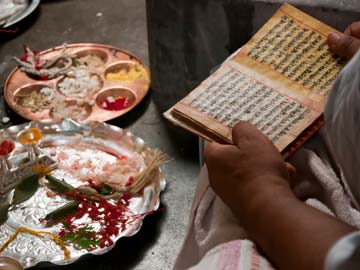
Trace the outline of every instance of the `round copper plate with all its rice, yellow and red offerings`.
{"label": "round copper plate with all its rice, yellow and red offerings", "polygon": [[134,108],[147,94],[150,75],[124,50],[71,44],[43,52],[25,46],[5,82],[9,106],[29,120],[107,121]]}

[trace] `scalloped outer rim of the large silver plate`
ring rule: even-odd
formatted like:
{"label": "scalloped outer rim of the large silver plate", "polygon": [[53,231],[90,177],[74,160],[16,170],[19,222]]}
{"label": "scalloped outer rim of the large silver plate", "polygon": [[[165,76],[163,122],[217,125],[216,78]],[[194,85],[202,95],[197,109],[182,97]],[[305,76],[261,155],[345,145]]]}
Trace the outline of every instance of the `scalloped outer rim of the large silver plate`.
{"label": "scalloped outer rim of the large silver plate", "polygon": [[[29,127],[39,127],[39,125],[41,127],[44,127],[44,126],[48,126],[50,128],[64,128],[64,126],[69,126],[70,128],[71,127],[78,127],[78,128],[81,128],[82,130],[89,130],[89,129],[92,129],[92,128],[96,128],[96,127],[101,127],[101,128],[106,128],[106,129],[111,129],[115,132],[121,132],[123,133],[123,136],[126,136],[130,139],[132,139],[136,144],[139,145],[139,147],[141,149],[143,149],[141,151],[141,153],[145,153],[147,151],[151,151],[150,147],[148,145],[145,144],[144,140],[142,140],[141,138],[133,135],[131,132],[129,131],[126,131],[120,127],[116,127],[116,126],[113,126],[113,125],[110,125],[110,124],[107,124],[107,123],[103,123],[103,122],[87,122],[87,123],[77,123],[71,119],[65,119],[63,121],[54,121],[54,120],[49,120],[49,119],[46,119],[46,120],[40,120],[40,121],[32,121],[32,122],[27,122],[27,123],[24,123],[24,124],[20,124],[20,125],[16,125],[16,126],[12,126],[12,127],[9,127],[9,128],[6,128],[6,129],[1,129],[0,130],[0,139],[1,138],[4,138],[4,137],[8,137],[8,133],[11,133],[11,134],[14,134],[16,133],[17,131],[21,130],[21,129],[24,129],[24,128],[29,128]],[[61,131],[67,131],[66,129],[63,129]],[[161,171],[161,170],[160,170]],[[165,178],[164,176],[162,175],[161,179],[159,180],[158,184],[156,185],[156,188],[152,187],[150,188],[150,186],[148,187],[145,187],[145,190],[146,189],[151,189],[151,195],[150,195],[150,199],[149,201],[146,201],[145,199],[143,200],[143,202],[140,204],[141,205],[141,209],[144,208],[144,206],[147,206],[146,211],[147,212],[150,212],[150,211],[156,211],[159,209],[159,206],[160,206],[160,193],[161,191],[164,190],[166,186],[166,181],[165,181]],[[142,198],[145,198],[146,197],[146,193],[144,191],[144,195]],[[152,205],[152,206],[151,206]],[[151,207],[150,207],[151,206]],[[74,263],[80,259],[85,259],[87,256],[89,255],[102,255],[102,254],[105,254],[107,252],[109,252],[110,250],[112,250],[117,241],[123,237],[131,237],[133,235],[135,235],[136,233],[139,232],[139,230],[141,229],[142,227],[142,224],[143,224],[143,219],[147,216],[147,214],[144,214],[142,217],[140,217],[137,222],[135,222],[133,225],[131,225],[129,228],[129,230],[127,230],[127,233],[126,235],[119,235],[117,236],[115,239],[114,239],[114,243],[113,245],[109,246],[109,247],[105,247],[105,248],[98,248],[94,251],[87,251],[86,253],[80,255],[80,256],[74,256],[74,257],[71,257],[70,259],[62,259],[62,260],[42,260],[42,259],[34,259],[32,261],[29,261],[29,262],[26,262],[24,264],[24,262],[21,262],[24,269],[26,268],[30,268],[30,267],[33,267],[33,266],[36,266],[38,264],[41,264],[41,266],[52,266],[52,265],[68,265],[68,264],[71,264],[71,263]],[[56,254],[54,254],[55,256]],[[21,258],[22,256],[25,256],[23,254],[14,254],[14,256],[11,256],[9,254],[0,254],[0,256],[7,256],[7,257],[10,257],[10,258],[13,258],[15,260],[18,260],[19,261],[19,258]]]}

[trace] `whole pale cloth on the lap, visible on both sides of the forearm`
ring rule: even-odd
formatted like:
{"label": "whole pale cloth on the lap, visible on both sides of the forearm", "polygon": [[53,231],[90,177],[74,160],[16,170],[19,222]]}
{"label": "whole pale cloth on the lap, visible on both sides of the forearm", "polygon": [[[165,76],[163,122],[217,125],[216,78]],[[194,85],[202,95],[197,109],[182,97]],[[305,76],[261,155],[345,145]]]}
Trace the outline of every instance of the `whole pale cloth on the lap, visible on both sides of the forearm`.
{"label": "whole pale cloth on the lap, visible on both sides of the forearm", "polygon": [[[289,160],[297,169],[295,193],[309,205],[360,228],[360,212],[346,192],[324,137],[322,130]],[[301,186],[307,188],[299,188]],[[231,210],[210,188],[206,166],[198,177],[189,227],[174,267],[175,270],[189,268],[274,269],[258,252]]]}

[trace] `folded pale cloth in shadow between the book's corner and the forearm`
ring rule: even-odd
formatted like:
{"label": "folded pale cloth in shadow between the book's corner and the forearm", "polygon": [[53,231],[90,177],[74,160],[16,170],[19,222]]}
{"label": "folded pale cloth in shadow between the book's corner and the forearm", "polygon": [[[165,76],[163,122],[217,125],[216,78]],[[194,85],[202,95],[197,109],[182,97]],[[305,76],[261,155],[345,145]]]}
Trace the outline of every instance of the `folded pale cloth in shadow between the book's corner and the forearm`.
{"label": "folded pale cloth in shadow between the book's corner and the forearm", "polygon": [[[325,129],[301,148],[289,161],[295,166],[300,182],[320,186],[320,192],[312,194],[306,202],[324,212],[331,213],[356,228],[360,228],[360,212],[348,193],[346,182],[328,152]],[[304,194],[297,194],[303,197]],[[320,206],[321,205],[321,206]],[[328,208],[327,210],[324,208]]]}

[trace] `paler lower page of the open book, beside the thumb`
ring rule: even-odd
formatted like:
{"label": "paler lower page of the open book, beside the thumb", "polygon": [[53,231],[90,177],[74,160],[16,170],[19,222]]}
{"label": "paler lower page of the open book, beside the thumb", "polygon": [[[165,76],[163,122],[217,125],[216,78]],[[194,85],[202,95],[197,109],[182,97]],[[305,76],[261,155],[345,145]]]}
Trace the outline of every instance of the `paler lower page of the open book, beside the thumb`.
{"label": "paler lower page of the open book, beside the thumb", "polygon": [[[201,87],[173,109],[178,117],[191,115],[203,129],[231,142],[231,128],[250,121],[282,151],[321,115],[316,108],[285,96],[263,82],[228,66],[221,67]],[[184,121],[184,119],[183,119]]]}

